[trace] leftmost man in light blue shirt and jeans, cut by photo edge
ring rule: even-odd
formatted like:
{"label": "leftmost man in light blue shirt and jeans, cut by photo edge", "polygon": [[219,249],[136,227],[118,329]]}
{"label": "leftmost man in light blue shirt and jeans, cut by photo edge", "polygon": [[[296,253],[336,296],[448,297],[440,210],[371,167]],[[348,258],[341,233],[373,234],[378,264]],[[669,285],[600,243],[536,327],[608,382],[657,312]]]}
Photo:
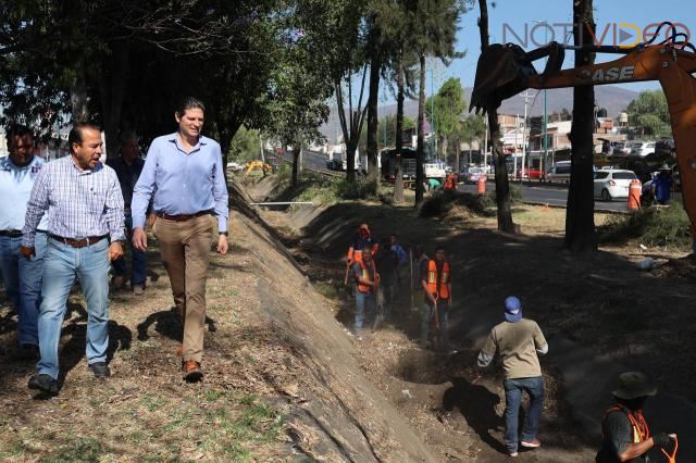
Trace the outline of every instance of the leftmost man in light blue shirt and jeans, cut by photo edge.
{"label": "leftmost man in light blue shirt and jeans, cut by photo edge", "polygon": [[34,360],[38,358],[37,320],[48,217],[38,225],[36,255],[26,260],[20,248],[26,204],[45,161],[34,155],[34,137],[27,127],[14,125],[5,135],[10,155],[0,160],[0,276],[18,315],[18,355]]}

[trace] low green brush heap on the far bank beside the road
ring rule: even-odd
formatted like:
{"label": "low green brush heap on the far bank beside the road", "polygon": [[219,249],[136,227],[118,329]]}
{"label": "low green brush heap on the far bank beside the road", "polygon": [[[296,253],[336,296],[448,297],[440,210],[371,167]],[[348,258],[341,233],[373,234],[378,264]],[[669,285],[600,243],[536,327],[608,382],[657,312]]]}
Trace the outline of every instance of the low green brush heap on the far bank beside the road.
{"label": "low green brush heap on the far bank beside the road", "polygon": [[622,243],[635,239],[646,246],[686,249],[692,245],[691,222],[683,207],[648,208],[627,216],[613,215],[598,228],[599,242]]}

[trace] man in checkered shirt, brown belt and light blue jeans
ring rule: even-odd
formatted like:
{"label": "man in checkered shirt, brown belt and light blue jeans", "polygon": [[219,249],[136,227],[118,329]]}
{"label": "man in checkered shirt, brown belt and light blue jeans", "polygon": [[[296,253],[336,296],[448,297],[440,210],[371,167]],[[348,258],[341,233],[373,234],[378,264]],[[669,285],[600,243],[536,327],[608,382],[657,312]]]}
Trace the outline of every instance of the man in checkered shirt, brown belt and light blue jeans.
{"label": "man in checkered shirt, brown belt and light blue jeans", "polygon": [[58,347],[65,303],[79,278],[87,300],[87,364],[97,378],[111,372],[109,347],[109,271],[123,255],[125,240],[123,197],[116,174],[99,162],[101,132],[87,124],[67,136],[71,155],[44,166],[27,204],[22,254],[36,253],[36,228],[48,211],[48,246],[39,313],[41,360],[29,378],[29,389],[55,393],[59,389]]}

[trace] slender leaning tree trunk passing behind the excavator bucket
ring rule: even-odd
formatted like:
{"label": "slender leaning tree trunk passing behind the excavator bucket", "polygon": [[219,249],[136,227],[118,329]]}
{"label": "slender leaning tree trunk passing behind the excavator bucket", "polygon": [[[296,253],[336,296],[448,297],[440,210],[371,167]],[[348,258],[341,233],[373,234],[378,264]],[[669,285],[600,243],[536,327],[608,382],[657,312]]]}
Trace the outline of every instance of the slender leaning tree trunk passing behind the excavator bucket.
{"label": "slender leaning tree trunk passing behind the excavator bucket", "polygon": [[[481,17],[478,18],[478,33],[481,35],[481,50],[488,47],[488,4],[487,0],[478,2]],[[500,141],[500,126],[498,125],[498,108],[493,104],[486,107],[488,129],[490,132],[490,151],[496,166],[496,205],[498,207],[498,229],[506,233],[517,233],[512,222],[512,208],[510,208],[510,183],[508,180],[508,166],[505,163],[505,154]]]}

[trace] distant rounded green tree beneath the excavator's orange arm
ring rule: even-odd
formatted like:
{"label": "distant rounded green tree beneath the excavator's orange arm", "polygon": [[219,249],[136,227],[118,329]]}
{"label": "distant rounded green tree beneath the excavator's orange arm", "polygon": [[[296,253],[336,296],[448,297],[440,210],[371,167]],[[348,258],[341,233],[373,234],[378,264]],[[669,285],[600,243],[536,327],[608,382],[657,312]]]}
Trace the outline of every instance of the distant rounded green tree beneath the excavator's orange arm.
{"label": "distant rounded green tree beneath the excavator's orange arm", "polygon": [[670,111],[662,90],[642,91],[627,108],[629,124],[639,136],[666,137],[671,134]]}

